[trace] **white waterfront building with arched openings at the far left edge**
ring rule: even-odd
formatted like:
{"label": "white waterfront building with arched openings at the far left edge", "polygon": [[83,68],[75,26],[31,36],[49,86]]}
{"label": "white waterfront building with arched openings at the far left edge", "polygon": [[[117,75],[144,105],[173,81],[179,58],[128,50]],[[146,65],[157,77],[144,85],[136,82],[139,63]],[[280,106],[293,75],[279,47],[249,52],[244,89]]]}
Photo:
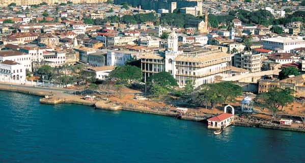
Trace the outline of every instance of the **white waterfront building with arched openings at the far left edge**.
{"label": "white waterfront building with arched openings at the far left edge", "polygon": [[25,83],[26,73],[24,65],[15,61],[0,62],[0,82]]}

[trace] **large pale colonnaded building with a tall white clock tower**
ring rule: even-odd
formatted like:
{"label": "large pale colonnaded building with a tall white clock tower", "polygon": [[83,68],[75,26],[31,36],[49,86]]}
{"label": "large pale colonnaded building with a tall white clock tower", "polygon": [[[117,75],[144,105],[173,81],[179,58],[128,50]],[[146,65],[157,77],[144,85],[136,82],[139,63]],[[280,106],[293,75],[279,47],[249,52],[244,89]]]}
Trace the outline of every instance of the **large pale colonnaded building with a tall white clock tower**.
{"label": "large pale colonnaded building with a tall white clock tower", "polygon": [[231,56],[219,50],[203,50],[184,53],[178,50],[178,37],[172,32],[168,38],[165,58],[158,55],[142,55],[144,80],[154,73],[169,72],[184,87],[187,80],[192,80],[195,87],[213,83],[215,76],[226,77],[230,73]]}

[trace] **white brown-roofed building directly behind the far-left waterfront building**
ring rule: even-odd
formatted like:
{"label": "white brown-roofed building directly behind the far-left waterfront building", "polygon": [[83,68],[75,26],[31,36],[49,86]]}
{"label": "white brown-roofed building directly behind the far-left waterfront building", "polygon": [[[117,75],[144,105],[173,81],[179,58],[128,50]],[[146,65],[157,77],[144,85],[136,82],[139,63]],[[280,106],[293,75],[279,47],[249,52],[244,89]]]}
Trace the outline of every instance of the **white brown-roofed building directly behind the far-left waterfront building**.
{"label": "white brown-roofed building directly behind the far-left waterfront building", "polygon": [[1,50],[0,63],[7,60],[17,62],[25,69],[32,71],[32,55],[28,53],[13,50]]}

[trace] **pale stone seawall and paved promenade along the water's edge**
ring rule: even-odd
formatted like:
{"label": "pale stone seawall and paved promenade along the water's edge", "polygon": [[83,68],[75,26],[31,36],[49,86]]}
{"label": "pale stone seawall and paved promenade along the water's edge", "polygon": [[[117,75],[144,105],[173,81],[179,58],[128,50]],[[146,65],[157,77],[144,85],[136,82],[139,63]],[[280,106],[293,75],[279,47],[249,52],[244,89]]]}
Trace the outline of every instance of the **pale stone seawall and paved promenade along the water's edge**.
{"label": "pale stone seawall and paved promenade along the water's edge", "polygon": [[[89,101],[82,99],[81,96],[74,95],[73,92],[76,90],[68,90],[61,88],[45,88],[45,87],[33,87],[27,85],[12,85],[8,83],[1,83],[0,90],[11,91],[11,92],[20,92],[30,95],[37,95],[44,98],[40,98],[40,102],[44,104],[61,104],[61,103],[72,103],[72,104],[81,104],[94,106],[95,108],[102,110],[110,111],[131,111],[139,112],[145,114],[155,114],[162,116],[175,117],[176,113],[173,110],[159,110],[157,108],[148,108],[148,107],[138,107],[131,104],[122,104],[114,102],[106,102],[104,100],[100,101]],[[49,96],[49,95],[52,96]],[[46,96],[49,96],[46,98]],[[207,118],[210,118],[211,115],[183,115],[181,119],[191,120],[191,121],[205,121]],[[250,121],[240,121],[236,120],[234,125],[236,126],[246,126],[246,127],[261,127],[261,128],[270,128],[270,129],[280,129],[280,130],[290,130],[290,131],[300,131],[305,132],[304,128],[293,128],[288,126],[280,125],[268,125],[268,124],[259,124],[253,123]]]}

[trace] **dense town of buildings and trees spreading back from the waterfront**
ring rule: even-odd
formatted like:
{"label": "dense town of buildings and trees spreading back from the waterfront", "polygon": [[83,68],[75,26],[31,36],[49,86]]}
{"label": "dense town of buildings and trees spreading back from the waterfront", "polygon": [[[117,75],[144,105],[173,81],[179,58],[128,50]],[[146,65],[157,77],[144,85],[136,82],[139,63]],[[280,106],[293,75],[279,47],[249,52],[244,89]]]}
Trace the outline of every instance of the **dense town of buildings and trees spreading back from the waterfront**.
{"label": "dense town of buildings and trees spreading back from the waterfront", "polygon": [[10,0],[0,11],[0,82],[192,114],[229,103],[305,117],[301,1]]}

